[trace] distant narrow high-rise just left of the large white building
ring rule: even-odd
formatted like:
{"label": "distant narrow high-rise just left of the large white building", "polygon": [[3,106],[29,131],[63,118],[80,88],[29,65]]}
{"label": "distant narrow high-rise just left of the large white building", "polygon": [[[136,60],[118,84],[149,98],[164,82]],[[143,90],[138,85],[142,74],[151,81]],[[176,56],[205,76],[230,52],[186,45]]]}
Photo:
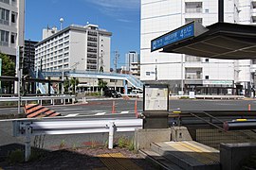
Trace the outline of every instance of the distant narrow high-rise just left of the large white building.
{"label": "distant narrow high-rise just left of the large white building", "polygon": [[134,76],[139,76],[140,65],[139,65],[139,54],[135,51],[130,51],[125,55],[125,71],[128,71]]}

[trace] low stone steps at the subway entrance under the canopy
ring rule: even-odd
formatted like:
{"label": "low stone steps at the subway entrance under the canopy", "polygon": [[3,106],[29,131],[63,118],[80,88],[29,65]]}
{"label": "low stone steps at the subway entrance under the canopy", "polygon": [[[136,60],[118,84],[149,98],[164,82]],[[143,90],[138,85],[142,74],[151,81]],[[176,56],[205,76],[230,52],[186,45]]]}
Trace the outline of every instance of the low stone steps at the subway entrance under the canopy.
{"label": "low stone steps at the subway entrance under the canopy", "polygon": [[140,150],[163,169],[219,170],[219,151],[193,141],[151,144],[151,150]]}

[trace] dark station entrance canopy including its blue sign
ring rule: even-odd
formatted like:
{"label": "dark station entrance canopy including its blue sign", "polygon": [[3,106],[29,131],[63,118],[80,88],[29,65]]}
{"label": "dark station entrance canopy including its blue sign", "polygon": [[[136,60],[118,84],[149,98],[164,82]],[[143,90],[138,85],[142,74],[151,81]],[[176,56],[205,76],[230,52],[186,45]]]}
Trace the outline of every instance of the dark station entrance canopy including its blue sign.
{"label": "dark station entrance canopy including its blue sign", "polygon": [[151,41],[151,51],[211,59],[256,59],[256,26],[192,22]]}

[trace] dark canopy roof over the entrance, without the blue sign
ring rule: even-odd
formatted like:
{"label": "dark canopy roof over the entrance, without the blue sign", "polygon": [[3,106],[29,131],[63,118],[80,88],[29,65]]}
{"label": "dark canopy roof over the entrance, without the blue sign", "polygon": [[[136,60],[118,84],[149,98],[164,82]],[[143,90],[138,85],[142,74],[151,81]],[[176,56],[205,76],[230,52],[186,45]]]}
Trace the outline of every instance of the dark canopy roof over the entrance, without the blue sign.
{"label": "dark canopy roof over the entrance, without the blue sign", "polygon": [[164,46],[161,52],[212,59],[256,58],[256,26],[216,23],[206,28],[205,33]]}

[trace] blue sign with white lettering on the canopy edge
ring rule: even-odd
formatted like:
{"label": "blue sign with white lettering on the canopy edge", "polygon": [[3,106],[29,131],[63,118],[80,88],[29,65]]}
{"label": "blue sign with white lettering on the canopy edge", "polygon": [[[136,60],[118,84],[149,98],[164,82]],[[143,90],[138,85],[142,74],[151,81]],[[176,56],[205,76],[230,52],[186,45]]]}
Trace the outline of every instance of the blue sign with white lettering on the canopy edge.
{"label": "blue sign with white lettering on the canopy edge", "polygon": [[151,51],[155,51],[172,43],[180,42],[191,37],[194,37],[194,22],[181,26],[151,41]]}

